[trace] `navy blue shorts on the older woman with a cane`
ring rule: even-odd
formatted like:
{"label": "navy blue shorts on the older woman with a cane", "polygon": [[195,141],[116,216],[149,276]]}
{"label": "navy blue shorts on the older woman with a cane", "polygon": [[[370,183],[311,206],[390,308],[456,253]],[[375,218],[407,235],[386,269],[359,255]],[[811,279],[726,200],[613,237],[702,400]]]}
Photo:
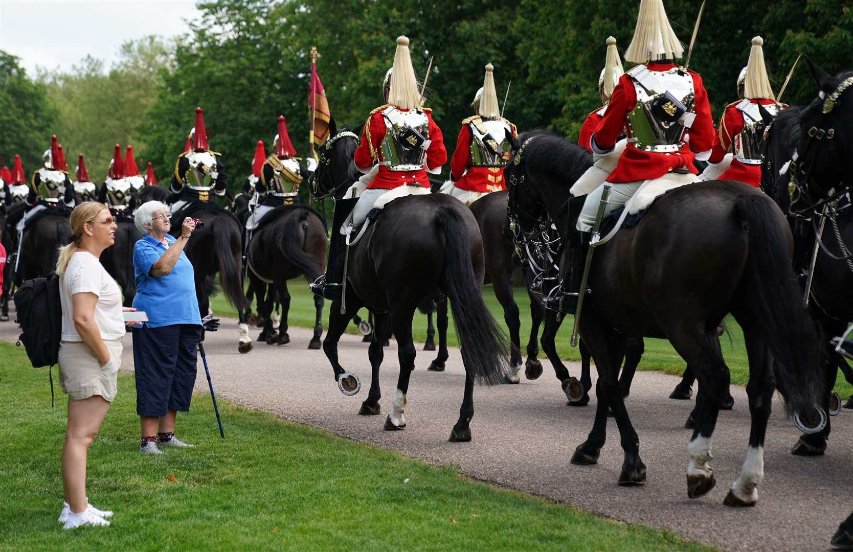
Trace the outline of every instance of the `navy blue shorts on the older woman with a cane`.
{"label": "navy blue shorts on the older woman with a cane", "polygon": [[160,417],[169,410],[189,411],[200,339],[197,324],[133,328],[137,415]]}

